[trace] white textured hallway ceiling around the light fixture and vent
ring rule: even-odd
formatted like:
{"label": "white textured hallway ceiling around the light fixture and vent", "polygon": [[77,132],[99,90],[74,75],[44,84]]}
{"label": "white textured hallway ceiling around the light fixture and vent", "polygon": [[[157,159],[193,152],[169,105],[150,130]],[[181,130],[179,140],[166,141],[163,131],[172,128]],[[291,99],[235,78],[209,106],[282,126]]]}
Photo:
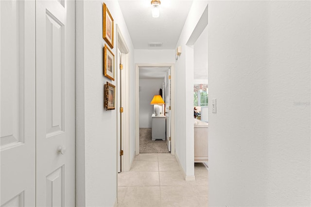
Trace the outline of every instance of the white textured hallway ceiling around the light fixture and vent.
{"label": "white textured hallway ceiling around the light fixture and vent", "polygon": [[[153,18],[151,0],[119,0],[135,49],[175,49],[192,0],[161,0],[160,17]],[[149,47],[148,43],[163,43]]]}

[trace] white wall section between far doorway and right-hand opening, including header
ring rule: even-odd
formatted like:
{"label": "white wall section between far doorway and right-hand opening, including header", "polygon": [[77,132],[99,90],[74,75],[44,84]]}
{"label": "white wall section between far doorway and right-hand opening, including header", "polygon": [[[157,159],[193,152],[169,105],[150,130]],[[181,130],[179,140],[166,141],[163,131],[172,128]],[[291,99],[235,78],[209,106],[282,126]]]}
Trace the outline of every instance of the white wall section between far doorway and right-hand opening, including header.
{"label": "white wall section between far doorway and right-hand opening, including header", "polygon": [[194,178],[194,130],[193,130],[193,46],[186,45],[200,17],[207,7],[207,1],[193,1],[182,33],[177,42],[182,53],[175,62],[176,102],[176,156],[186,179]]}

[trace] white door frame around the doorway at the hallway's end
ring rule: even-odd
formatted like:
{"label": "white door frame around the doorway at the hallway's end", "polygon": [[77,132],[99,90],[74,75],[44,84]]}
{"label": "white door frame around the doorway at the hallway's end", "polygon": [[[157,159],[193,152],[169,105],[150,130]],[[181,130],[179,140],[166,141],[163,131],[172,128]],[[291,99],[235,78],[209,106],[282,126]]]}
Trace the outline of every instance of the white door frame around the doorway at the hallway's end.
{"label": "white door frame around the doorway at the hallway's end", "polygon": [[171,68],[171,154],[175,155],[175,68],[173,63],[135,65],[135,154],[139,155],[139,68]]}

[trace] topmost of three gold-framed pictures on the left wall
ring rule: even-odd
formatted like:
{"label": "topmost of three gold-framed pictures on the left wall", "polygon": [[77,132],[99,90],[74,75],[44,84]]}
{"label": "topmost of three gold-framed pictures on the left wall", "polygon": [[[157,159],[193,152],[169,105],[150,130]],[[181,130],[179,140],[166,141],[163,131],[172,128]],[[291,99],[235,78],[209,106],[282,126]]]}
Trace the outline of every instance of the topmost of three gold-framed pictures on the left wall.
{"label": "topmost of three gold-framed pictures on the left wall", "polygon": [[103,38],[107,44],[113,48],[113,18],[106,6],[103,3]]}

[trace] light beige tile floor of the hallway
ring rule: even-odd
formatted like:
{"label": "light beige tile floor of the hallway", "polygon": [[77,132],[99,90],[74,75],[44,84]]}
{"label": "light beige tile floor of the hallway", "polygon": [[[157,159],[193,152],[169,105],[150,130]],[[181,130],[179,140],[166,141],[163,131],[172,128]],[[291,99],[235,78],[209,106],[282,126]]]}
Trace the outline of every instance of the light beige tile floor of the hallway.
{"label": "light beige tile floor of the hallway", "polygon": [[185,181],[174,155],[139,154],[118,174],[118,207],[207,207],[207,167],[195,163],[194,175]]}

